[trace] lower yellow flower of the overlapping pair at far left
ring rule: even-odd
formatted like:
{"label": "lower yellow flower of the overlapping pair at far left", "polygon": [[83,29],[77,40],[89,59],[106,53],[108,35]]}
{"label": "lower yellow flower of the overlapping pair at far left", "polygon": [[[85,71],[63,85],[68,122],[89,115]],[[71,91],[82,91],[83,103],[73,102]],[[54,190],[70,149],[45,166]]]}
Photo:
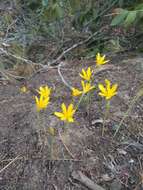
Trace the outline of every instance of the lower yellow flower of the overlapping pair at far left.
{"label": "lower yellow flower of the overlapping pair at far left", "polygon": [[35,102],[36,102],[37,111],[39,112],[47,108],[49,104],[49,97],[46,98],[44,96],[40,96],[40,98],[38,98],[37,96],[35,96]]}

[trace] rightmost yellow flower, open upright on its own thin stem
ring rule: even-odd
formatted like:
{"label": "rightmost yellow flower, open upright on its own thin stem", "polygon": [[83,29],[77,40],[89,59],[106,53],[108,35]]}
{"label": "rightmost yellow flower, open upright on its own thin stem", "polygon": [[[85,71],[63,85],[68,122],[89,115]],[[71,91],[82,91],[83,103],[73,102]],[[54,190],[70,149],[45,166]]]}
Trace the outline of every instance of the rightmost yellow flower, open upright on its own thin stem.
{"label": "rightmost yellow flower, open upright on its own thin stem", "polygon": [[105,97],[106,100],[111,99],[113,96],[117,94],[117,84],[114,84],[111,86],[111,83],[109,80],[105,79],[106,86],[104,87],[103,84],[99,84],[98,87],[101,92],[99,92],[99,95],[102,97]]}

